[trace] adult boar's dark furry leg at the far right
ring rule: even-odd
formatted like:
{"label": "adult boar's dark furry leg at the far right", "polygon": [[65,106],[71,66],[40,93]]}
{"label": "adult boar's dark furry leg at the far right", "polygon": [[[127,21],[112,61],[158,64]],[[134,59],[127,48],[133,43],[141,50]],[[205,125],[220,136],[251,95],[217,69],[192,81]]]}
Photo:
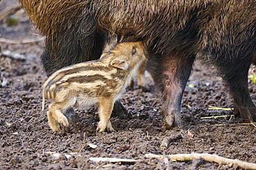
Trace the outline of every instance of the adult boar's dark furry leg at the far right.
{"label": "adult boar's dark furry leg at the far right", "polygon": [[[226,60],[223,61],[223,59]],[[250,58],[244,57],[243,61],[229,61],[228,57],[223,57],[223,59],[217,62],[217,66],[219,66],[223,80],[230,87],[235,115],[241,116],[244,121],[256,122],[256,107],[248,90]]]}

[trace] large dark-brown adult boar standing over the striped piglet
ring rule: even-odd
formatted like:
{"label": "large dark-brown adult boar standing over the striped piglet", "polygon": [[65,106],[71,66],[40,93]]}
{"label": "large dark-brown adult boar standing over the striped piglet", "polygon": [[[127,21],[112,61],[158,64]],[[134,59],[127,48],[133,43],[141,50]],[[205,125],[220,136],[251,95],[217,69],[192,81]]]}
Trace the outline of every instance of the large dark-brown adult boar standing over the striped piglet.
{"label": "large dark-brown adult boar standing over the striped piglet", "polygon": [[[247,74],[256,49],[255,0],[20,0],[46,36],[46,73],[100,57],[112,33],[143,39],[163,91],[165,127],[179,123],[181,98],[196,56],[230,86],[236,113],[256,121]],[[152,55],[153,56],[153,55]],[[150,60],[150,59],[149,59]],[[156,68],[157,67],[157,68]]]}

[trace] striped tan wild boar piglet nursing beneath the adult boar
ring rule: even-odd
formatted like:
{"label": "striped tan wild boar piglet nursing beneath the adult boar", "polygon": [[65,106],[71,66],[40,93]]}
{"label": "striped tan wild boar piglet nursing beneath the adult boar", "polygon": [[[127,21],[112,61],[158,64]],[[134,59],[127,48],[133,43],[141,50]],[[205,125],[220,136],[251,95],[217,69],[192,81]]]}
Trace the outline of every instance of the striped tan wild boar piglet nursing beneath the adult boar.
{"label": "striped tan wild boar piglet nursing beneath the adult boar", "polygon": [[51,104],[47,111],[48,123],[60,132],[60,124],[68,126],[63,114],[68,108],[86,108],[98,104],[100,122],[97,131],[114,131],[110,117],[114,102],[125,91],[131,76],[147,62],[143,42],[116,44],[100,59],[75,64],[53,73],[43,85],[42,110],[45,100]]}

